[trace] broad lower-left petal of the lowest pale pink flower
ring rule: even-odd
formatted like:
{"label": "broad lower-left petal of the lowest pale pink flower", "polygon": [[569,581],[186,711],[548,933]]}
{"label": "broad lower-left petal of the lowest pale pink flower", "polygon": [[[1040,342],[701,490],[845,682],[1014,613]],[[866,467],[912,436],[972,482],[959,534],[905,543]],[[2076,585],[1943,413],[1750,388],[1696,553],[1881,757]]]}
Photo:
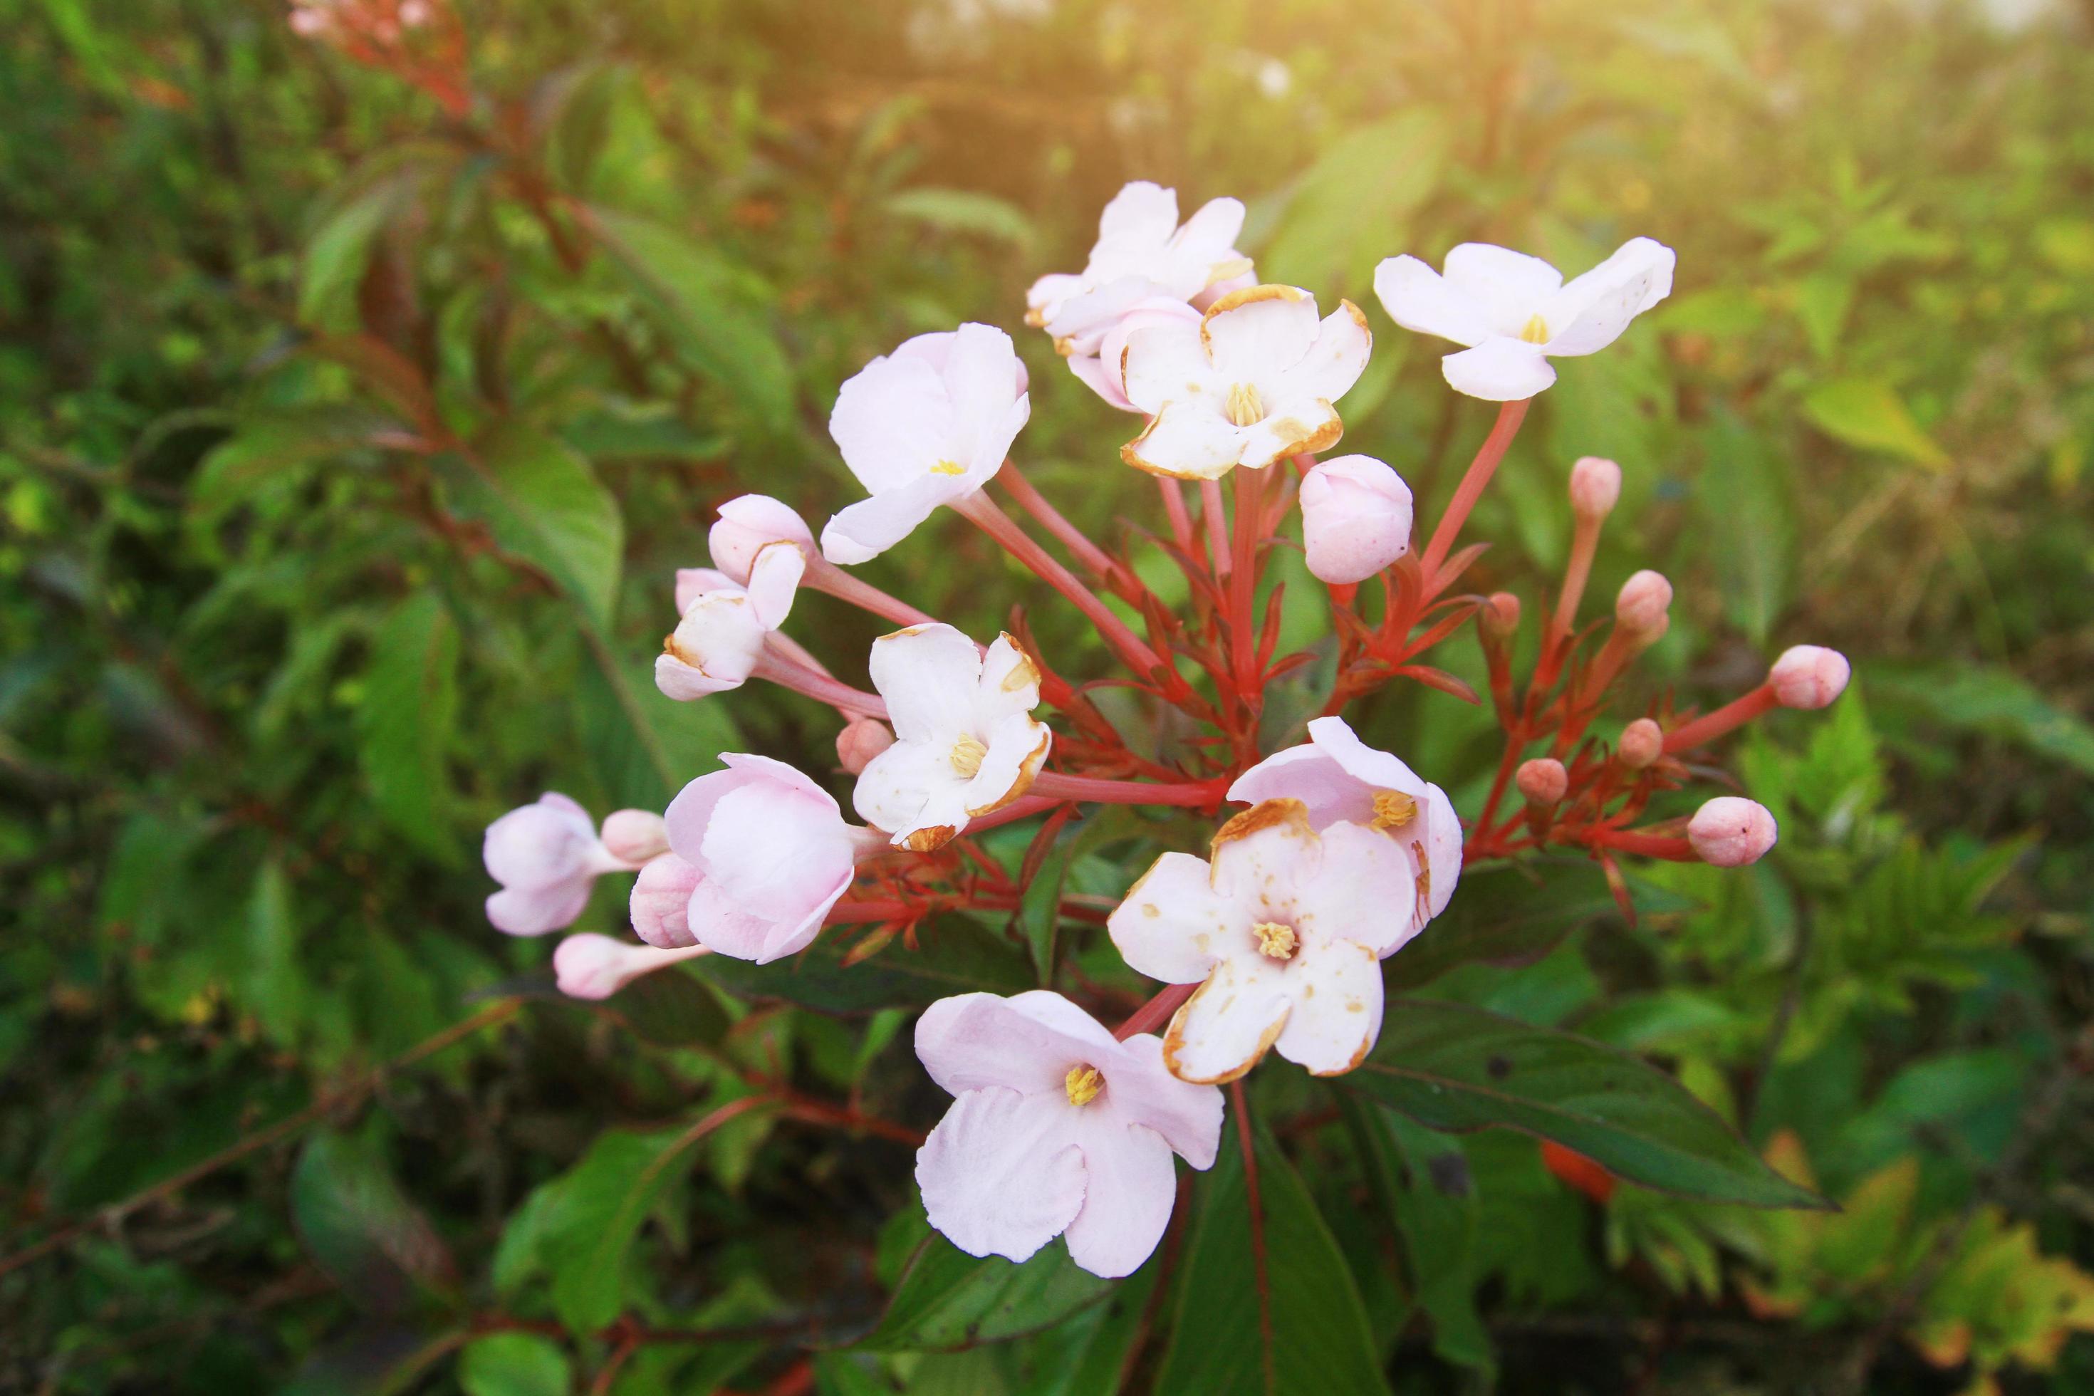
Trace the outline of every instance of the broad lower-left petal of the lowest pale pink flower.
{"label": "broad lower-left petal of the lowest pale pink flower", "polygon": [[1030,1260],[1083,1210],[1083,1151],[1057,1093],[967,1090],[917,1151],[923,1212],[970,1256]]}

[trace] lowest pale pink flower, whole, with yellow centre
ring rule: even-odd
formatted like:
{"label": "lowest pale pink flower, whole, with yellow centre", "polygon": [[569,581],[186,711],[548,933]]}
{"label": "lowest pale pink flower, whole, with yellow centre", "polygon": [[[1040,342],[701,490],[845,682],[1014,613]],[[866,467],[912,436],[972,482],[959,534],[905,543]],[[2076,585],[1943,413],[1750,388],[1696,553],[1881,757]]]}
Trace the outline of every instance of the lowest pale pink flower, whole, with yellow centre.
{"label": "lowest pale pink flower, whole, with yellow centre", "polygon": [[953,1107],[917,1151],[930,1224],[970,1256],[1028,1260],[1066,1237],[1093,1275],[1133,1275],[1177,1201],[1177,1153],[1212,1168],[1221,1093],[1175,1080],[1160,1042],[1116,1042],[1062,994],[940,998],[917,1057]]}

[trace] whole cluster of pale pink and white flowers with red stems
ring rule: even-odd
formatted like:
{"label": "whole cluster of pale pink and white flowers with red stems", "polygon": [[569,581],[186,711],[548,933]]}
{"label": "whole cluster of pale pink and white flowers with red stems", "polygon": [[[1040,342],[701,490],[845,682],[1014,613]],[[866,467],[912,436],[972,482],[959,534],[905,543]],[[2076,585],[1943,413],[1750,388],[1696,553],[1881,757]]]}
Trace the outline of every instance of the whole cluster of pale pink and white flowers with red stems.
{"label": "whole cluster of pale pink and white flowers with red stems", "polygon": [[[599,998],[687,956],[777,961],[840,927],[871,927],[846,963],[896,938],[896,954],[921,952],[913,929],[926,917],[1007,913],[1026,898],[1026,871],[976,841],[997,825],[1041,818],[1043,852],[1087,804],[1215,820],[1206,856],[1162,852],[1104,915],[1127,965],[1162,984],[1116,1030],[1051,990],[961,994],[917,1023],[917,1057],[953,1095],[917,1155],[917,1183],[932,1224],[976,1256],[1022,1260],[1062,1235],[1087,1270],[1131,1273],[1168,1222],[1173,1155],[1215,1162],[1219,1086],[1267,1051],[1319,1076],[1359,1067],[1382,1026],[1380,963],[1428,931],[1466,860],[1577,850],[1625,908],[1621,856],[1753,862],[1776,831],[1751,800],[1719,795],[1688,818],[1638,820],[1698,772],[1688,756],[1711,739],[1772,707],[1822,707],[1847,682],[1836,653],[1799,647],[1715,712],[1661,705],[1612,741],[1596,737],[1671,607],[1671,584],[1640,571],[1608,622],[1579,624],[1621,492],[1610,460],[1568,473],[1568,565],[1524,682],[1512,672],[1520,601],[1455,590],[1480,553],[1457,548],[1462,527],[1529,400],[1554,383],[1550,360],[1606,347],[1661,301],[1669,249],[1633,239],[1568,283],[1537,257],[1474,243],[1449,251],[1445,272],[1416,257],[1380,266],[1376,293],[1399,327],[1466,345],[1447,356],[1447,383],[1501,404],[1420,544],[1411,490],[1390,465],[1317,460],[1338,444],[1340,402],[1367,366],[1367,316],[1351,301],[1321,314],[1311,291],[1258,283],[1235,249],[1242,220],[1240,203],[1217,199],[1179,224],[1175,190],[1129,184],[1085,270],[1043,276],[1028,293],[1028,322],[1070,373],[1141,416],[1120,458],[1154,477],[1156,540],[1185,573],[1185,607],[1166,607],[1124,546],[1072,525],[1011,460],[1030,412],[1011,337],[988,324],[919,335],[844,383],[829,416],[867,498],[840,509],[819,540],[775,498],[722,504],[710,567],[676,576],[676,622],[655,661],[672,699],[766,680],[833,710],[863,825],[810,774],[733,753],[662,816],[622,810],[601,835],[561,795],[488,829],[488,873],[503,885],[488,917],[517,936],[574,923],[597,877],[639,873],[630,923],[643,944],[574,936],[555,954],[561,988]],[[990,498],[993,481],[1024,523]],[[1273,653],[1277,590],[1263,609],[1258,596],[1296,498],[1309,571],[1330,592],[1336,666],[1323,716],[1267,751],[1271,684],[1317,659]],[[1196,737],[1154,747],[1028,634],[982,643],[846,571],[940,506],[1074,605],[1124,668],[1118,682]],[[1378,607],[1361,594],[1369,582]],[[802,586],[896,626],[869,643],[869,691],[787,634]],[[1470,624],[1489,695],[1424,663]],[[1466,820],[1445,789],[1342,716],[1399,678],[1497,714],[1503,758]],[[1520,806],[1508,810],[1514,791]],[[1091,923],[1099,910],[1062,906]],[[1095,988],[1087,996],[1106,1007]]]}

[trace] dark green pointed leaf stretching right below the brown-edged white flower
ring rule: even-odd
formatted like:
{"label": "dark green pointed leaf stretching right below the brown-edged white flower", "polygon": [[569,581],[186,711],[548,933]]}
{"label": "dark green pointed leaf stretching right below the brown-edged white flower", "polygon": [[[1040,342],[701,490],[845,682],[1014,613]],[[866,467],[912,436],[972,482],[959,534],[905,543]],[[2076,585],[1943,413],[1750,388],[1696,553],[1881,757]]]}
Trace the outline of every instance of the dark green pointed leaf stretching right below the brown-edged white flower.
{"label": "dark green pointed leaf stretching right below the brown-edged white flower", "polygon": [[1434,1130],[1506,1126],[1554,1139],[1619,1178],[1681,1197],[1826,1206],[1654,1065],[1483,1009],[1390,1003],[1374,1053],[1340,1084]]}

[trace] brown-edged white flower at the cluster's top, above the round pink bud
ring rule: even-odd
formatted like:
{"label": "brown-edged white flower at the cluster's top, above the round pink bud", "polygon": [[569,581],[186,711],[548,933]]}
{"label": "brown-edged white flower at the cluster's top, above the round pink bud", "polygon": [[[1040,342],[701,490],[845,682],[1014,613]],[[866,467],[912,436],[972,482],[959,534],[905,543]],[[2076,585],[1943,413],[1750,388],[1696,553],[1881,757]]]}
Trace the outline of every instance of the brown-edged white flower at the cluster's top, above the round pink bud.
{"label": "brown-edged white flower at the cluster's top, above the round pink bud", "polygon": [[1344,433],[1332,406],[1359,381],[1374,335],[1353,301],[1317,320],[1298,287],[1246,287],[1200,324],[1148,324],[1127,337],[1127,398],[1150,425],[1120,458],[1154,475],[1219,479],[1326,450]]}

